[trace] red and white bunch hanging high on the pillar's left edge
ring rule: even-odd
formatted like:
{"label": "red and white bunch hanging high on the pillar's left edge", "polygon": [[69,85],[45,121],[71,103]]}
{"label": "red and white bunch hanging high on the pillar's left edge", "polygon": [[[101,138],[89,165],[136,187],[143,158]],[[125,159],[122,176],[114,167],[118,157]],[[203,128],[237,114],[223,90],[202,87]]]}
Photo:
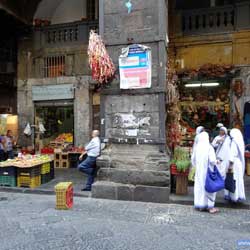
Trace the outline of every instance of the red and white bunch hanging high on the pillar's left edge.
{"label": "red and white bunch hanging high on the pillar's left edge", "polygon": [[115,66],[101,37],[93,30],[90,31],[88,56],[92,78],[99,84],[110,82],[115,76]]}

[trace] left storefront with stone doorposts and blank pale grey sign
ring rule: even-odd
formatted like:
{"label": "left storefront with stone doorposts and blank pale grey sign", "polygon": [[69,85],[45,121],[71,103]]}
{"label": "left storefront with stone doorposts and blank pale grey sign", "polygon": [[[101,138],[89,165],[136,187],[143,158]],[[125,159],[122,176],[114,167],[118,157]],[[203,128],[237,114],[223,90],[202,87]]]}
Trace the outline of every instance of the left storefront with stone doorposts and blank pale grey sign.
{"label": "left storefront with stone doorposts and blank pale grey sign", "polygon": [[[18,88],[21,146],[32,146],[39,152],[64,142],[76,147],[85,145],[92,130],[88,81],[88,77],[82,77],[81,82],[76,77],[63,77],[60,84],[55,84],[50,79],[31,79],[26,90]],[[23,133],[28,124],[30,136]]]}

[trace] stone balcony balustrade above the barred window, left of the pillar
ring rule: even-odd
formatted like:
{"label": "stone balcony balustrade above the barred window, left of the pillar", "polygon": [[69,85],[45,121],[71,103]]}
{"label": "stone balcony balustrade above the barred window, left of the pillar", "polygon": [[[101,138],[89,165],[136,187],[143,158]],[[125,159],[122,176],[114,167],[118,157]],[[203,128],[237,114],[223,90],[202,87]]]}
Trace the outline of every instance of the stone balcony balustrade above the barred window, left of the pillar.
{"label": "stone balcony balustrade above the barred window, left of the pillar", "polygon": [[90,30],[98,30],[98,21],[82,21],[35,28],[35,47],[63,47],[87,44]]}

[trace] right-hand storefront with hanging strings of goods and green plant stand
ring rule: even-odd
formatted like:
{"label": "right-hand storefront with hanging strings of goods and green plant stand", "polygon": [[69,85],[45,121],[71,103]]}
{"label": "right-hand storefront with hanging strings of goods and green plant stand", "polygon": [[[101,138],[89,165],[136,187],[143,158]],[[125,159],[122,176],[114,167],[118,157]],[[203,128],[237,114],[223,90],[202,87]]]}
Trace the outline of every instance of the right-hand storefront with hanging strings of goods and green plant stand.
{"label": "right-hand storefront with hanging strings of goods and green plant stand", "polygon": [[203,126],[212,141],[218,123],[227,128],[237,125],[235,72],[232,66],[212,64],[197,70],[169,70],[166,133],[173,155],[172,192],[188,194],[193,184],[188,174],[196,128]]}

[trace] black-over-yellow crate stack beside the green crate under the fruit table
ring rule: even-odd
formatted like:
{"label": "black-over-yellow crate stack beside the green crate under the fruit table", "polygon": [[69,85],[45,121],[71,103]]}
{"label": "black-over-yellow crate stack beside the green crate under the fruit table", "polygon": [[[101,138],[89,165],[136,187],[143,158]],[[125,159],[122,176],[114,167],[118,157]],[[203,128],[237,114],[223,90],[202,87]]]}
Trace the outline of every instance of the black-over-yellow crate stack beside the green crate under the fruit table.
{"label": "black-over-yellow crate stack beside the green crate under the fruit table", "polygon": [[41,185],[41,166],[17,169],[17,186],[36,188]]}

